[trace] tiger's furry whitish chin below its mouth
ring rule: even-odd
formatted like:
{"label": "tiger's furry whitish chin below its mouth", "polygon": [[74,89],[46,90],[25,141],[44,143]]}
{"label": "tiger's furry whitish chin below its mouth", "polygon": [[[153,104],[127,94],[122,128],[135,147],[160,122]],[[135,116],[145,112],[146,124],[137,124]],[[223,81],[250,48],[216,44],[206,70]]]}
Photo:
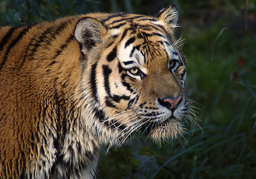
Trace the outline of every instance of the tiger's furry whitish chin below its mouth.
{"label": "tiger's furry whitish chin below its mouth", "polygon": [[156,125],[148,133],[148,137],[154,141],[168,141],[172,138],[177,138],[184,131],[181,121],[177,118],[169,118],[166,121]]}

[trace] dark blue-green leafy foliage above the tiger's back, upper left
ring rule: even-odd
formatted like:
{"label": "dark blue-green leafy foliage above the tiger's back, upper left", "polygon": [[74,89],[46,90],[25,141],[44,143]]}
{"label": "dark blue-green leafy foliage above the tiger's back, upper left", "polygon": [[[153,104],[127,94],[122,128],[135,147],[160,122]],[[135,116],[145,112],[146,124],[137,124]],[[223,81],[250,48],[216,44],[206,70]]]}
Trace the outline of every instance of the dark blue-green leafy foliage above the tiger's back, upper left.
{"label": "dark blue-green leafy foliage above the tiger's back, upper left", "polygon": [[0,15],[1,25],[31,24],[93,12],[98,10],[97,5],[93,0],[6,0],[2,2],[1,11],[5,13]]}

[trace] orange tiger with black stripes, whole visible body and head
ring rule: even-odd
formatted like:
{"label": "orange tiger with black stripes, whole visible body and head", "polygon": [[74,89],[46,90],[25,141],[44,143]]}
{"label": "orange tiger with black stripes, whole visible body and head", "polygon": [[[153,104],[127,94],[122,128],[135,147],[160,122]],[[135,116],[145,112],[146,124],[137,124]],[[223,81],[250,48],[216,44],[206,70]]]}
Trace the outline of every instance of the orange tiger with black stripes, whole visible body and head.
{"label": "orange tiger with black stripes, whole visible body and head", "polygon": [[96,178],[104,146],[182,135],[191,107],[177,21],[170,5],[1,27],[0,178]]}

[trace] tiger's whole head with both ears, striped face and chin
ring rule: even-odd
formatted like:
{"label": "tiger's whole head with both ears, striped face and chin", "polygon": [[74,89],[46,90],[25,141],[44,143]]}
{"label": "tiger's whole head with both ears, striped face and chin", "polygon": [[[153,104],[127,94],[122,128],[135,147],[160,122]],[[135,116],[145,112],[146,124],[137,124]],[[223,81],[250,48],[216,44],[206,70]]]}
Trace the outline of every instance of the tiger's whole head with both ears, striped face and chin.
{"label": "tiger's whole head with both ears, striped face and chin", "polygon": [[96,14],[77,23],[80,90],[103,141],[119,145],[134,131],[156,141],[183,132],[190,109],[186,60],[174,39],[177,19],[170,5],[154,17]]}

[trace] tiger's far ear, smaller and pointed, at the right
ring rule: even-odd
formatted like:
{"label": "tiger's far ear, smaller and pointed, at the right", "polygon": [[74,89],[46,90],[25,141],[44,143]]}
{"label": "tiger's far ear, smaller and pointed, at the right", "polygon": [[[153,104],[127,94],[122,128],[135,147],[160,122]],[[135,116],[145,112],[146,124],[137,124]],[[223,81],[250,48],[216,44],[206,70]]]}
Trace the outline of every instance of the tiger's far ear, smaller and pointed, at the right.
{"label": "tiger's far ear, smaller and pointed, at the right", "polygon": [[173,29],[177,25],[179,14],[175,4],[169,5],[167,8],[162,9],[156,14],[158,20],[164,21],[168,24],[169,28]]}

